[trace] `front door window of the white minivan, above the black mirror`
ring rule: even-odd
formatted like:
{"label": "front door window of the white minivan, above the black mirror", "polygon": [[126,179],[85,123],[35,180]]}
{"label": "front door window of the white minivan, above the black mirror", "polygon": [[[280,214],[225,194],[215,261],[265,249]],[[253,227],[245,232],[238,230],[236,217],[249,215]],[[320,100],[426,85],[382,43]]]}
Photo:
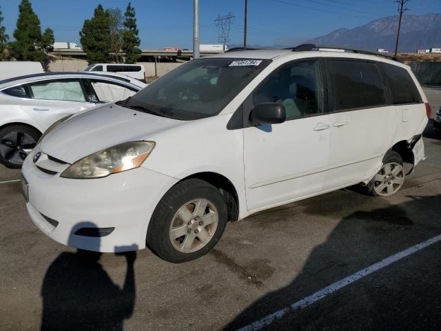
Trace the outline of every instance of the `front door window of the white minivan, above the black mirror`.
{"label": "front door window of the white minivan, above the black mirror", "polygon": [[317,114],[321,110],[321,91],[318,61],[293,63],[276,69],[254,90],[253,106],[282,103],[288,119]]}

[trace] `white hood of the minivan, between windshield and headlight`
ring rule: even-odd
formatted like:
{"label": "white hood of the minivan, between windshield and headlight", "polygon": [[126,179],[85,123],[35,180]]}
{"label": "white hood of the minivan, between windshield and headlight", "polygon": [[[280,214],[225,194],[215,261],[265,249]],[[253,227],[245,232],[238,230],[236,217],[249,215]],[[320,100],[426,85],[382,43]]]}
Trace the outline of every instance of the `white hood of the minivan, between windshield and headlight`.
{"label": "white hood of the minivan, between windshield and headlight", "polygon": [[183,123],[107,103],[61,123],[44,137],[40,149],[51,157],[74,163],[99,150],[127,141],[146,140],[155,132]]}

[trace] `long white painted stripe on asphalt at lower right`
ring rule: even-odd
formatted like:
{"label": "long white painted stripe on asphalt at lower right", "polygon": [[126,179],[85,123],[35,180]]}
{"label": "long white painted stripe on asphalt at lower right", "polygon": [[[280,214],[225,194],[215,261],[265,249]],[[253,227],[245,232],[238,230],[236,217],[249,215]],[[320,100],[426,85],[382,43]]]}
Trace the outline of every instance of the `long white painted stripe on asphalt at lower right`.
{"label": "long white painted stripe on asphalt at lower right", "polygon": [[348,277],[340,279],[340,281],[336,281],[335,283],[332,283],[326,288],[322,288],[321,290],[318,290],[314,294],[311,294],[309,297],[306,297],[304,299],[301,299],[300,301],[292,303],[291,305],[289,305],[289,307],[278,310],[277,312],[273,312],[272,314],[267,315],[263,319],[259,319],[258,321],[255,321],[241,328],[239,331],[260,330],[261,328],[270,325],[274,321],[277,321],[278,319],[282,319],[283,317],[285,317],[285,315],[294,312],[300,308],[305,308],[308,305],[311,305],[312,303],[327,297],[329,294],[334,293],[337,290],[340,290],[340,288],[344,288],[346,285],[349,285],[354,281],[358,281],[358,279],[366,277],[368,274],[371,274],[373,272],[376,272],[377,270],[387,267],[387,265],[392,264],[400,259],[403,259],[404,257],[408,257],[410,254],[418,252],[418,250],[427,248],[428,246],[433,245],[433,243],[437,243],[438,241],[441,241],[441,234],[427,241],[418,243],[410,248],[407,248],[406,250],[402,250],[401,252],[398,252],[397,254],[394,254],[391,257],[387,257],[386,259],[380,262],[374,263],[373,265],[370,265],[365,269],[359,270],[355,274],[351,274]]}

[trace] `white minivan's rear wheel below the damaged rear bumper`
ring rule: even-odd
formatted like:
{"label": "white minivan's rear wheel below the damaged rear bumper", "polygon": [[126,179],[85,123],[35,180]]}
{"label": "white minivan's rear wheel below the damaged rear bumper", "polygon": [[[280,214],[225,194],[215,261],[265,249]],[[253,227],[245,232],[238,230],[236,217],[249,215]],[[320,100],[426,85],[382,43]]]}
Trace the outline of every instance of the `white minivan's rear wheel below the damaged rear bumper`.
{"label": "white minivan's rear wheel below the damaged rear bumper", "polygon": [[380,171],[369,182],[369,194],[374,197],[389,197],[400,190],[404,177],[401,155],[391,150],[384,156]]}

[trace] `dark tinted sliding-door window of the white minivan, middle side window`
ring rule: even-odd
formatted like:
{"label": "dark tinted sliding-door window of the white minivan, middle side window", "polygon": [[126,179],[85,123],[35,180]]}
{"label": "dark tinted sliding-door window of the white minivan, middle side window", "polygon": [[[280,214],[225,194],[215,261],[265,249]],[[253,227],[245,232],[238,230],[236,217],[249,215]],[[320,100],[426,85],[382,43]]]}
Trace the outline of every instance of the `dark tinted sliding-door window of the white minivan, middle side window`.
{"label": "dark tinted sliding-door window of the white minivan, middle side window", "polygon": [[386,104],[386,90],[376,63],[329,60],[327,70],[334,110]]}

